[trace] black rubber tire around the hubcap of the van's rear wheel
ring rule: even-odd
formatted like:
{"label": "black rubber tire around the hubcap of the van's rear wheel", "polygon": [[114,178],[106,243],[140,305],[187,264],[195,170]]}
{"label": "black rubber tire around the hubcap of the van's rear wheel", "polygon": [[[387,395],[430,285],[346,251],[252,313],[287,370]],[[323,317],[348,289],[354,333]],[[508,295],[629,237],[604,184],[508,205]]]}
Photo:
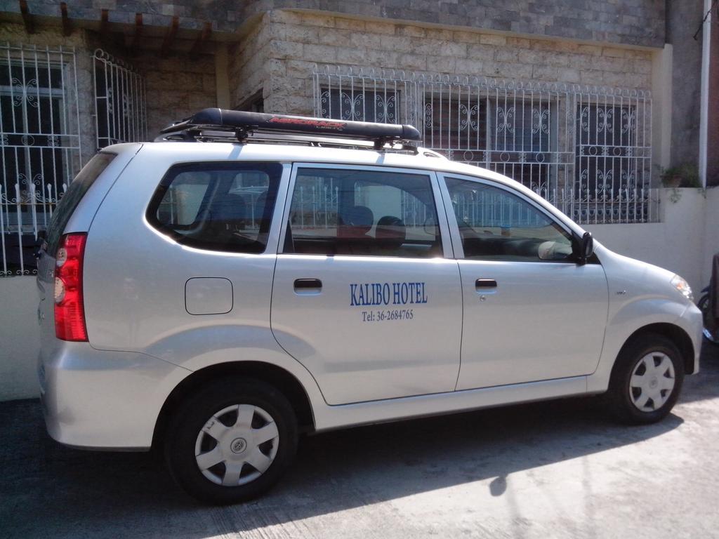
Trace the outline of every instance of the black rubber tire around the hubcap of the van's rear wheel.
{"label": "black rubber tire around the hubcap of the van's rear wheel", "polygon": [[[256,428],[255,425],[259,425],[257,428],[260,428],[262,425],[267,426],[274,423],[278,438],[260,443],[257,446],[253,445],[249,441],[249,437],[244,434],[242,436],[247,438],[247,442],[244,441],[244,438],[239,437],[232,440],[233,436],[248,432],[247,429],[244,431],[232,430],[233,428],[239,428],[238,425],[229,426],[233,423],[232,412],[226,412],[219,415],[218,418],[214,416],[219,414],[221,410],[235,407],[236,405],[244,405],[244,410],[249,410],[249,407],[256,410],[249,416],[251,418],[250,429]],[[238,415],[239,412],[235,412],[234,418],[236,420]],[[267,421],[267,416],[273,421]],[[226,433],[226,436],[222,438],[224,440],[222,445],[215,441],[209,433],[205,433],[200,437],[203,428],[211,425],[211,420],[214,419],[224,425],[224,427],[218,426],[219,429],[227,429],[222,431]],[[256,433],[257,430],[250,430],[249,432]],[[250,436],[252,435],[250,434]],[[165,431],[165,460],[170,468],[170,474],[185,492],[201,502],[213,505],[227,505],[258,497],[278,482],[278,479],[283,475],[295,456],[297,438],[295,413],[290,402],[282,393],[276,390],[275,387],[259,380],[232,377],[207,384],[175,410]],[[244,477],[239,476],[238,483],[242,481],[249,482],[238,484],[237,486],[225,486],[216,484],[205,475],[209,474],[214,480],[219,479],[220,481],[229,478],[229,468],[226,468],[226,464],[224,464],[224,462],[228,461],[216,464],[206,469],[205,472],[201,471],[196,460],[196,446],[209,443],[210,446],[208,446],[207,451],[210,451],[214,448],[211,445],[213,442],[218,451],[220,449],[224,453],[232,451],[232,454],[227,453],[229,454],[229,459],[239,460],[239,463],[231,463],[232,466],[239,466],[242,469],[242,474],[244,474]],[[277,443],[276,448],[275,442]],[[269,467],[260,472],[259,468],[255,469],[251,465],[242,464],[242,455],[238,456],[234,453],[237,453],[236,448],[241,449],[243,446],[244,451],[248,451],[245,455],[247,457],[249,457],[249,451],[255,451],[255,449],[262,451],[263,454],[273,456]],[[201,451],[205,452],[204,450]],[[268,461],[271,459],[270,456],[266,457]],[[248,472],[247,474],[245,474],[246,471]],[[257,473],[260,473],[260,475],[256,479],[252,479],[252,476]]]}

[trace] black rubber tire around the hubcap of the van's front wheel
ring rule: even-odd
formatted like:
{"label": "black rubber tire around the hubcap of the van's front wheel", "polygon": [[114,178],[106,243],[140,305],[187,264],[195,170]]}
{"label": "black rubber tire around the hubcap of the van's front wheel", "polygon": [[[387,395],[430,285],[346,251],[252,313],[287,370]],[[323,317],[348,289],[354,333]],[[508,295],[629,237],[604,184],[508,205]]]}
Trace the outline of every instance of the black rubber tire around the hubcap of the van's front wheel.
{"label": "black rubber tire around the hubcap of the van's front wheel", "polygon": [[[653,353],[655,355],[652,356],[651,361],[654,363],[659,361],[661,364],[661,359],[664,356],[669,357],[674,374],[674,384],[671,390],[661,390],[657,394],[659,402],[664,402],[666,399],[659,408],[646,410],[646,408],[654,407],[654,400],[649,397],[649,400],[644,402],[644,410],[642,410],[638,404],[641,403],[644,389],[631,387],[631,377],[635,373],[635,369],[636,374],[640,376],[646,374],[646,367],[640,366],[640,363],[646,356]],[[661,378],[671,379],[669,370],[672,369],[668,369],[666,373],[657,377],[649,377],[656,378],[656,384],[650,389],[652,392],[656,392],[656,388],[661,387],[659,384],[664,382]],[[656,423],[667,417],[672,411],[672,407],[679,398],[679,392],[682,391],[683,383],[684,361],[677,346],[669,338],[658,333],[644,333],[644,335],[636,336],[625,344],[612,369],[607,395],[610,411],[623,423],[633,425]]]}

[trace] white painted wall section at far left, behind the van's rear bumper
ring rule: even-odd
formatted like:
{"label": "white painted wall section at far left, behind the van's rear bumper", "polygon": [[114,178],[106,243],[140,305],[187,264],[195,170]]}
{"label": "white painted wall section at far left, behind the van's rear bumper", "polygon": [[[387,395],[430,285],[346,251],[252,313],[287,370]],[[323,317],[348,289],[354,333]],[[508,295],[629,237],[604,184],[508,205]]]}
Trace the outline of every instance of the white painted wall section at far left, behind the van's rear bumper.
{"label": "white painted wall section at far left, behind the van's rear bumper", "polygon": [[35,277],[0,279],[0,401],[40,395]]}

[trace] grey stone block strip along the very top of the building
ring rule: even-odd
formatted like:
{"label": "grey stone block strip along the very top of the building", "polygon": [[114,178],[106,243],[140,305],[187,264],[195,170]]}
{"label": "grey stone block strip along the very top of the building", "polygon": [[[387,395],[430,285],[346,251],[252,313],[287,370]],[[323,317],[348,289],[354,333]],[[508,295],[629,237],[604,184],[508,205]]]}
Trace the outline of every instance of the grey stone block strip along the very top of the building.
{"label": "grey stone block strip along the very top of the building", "polygon": [[[674,0],[683,3],[690,0]],[[29,0],[32,14],[58,17],[57,0]],[[664,42],[664,0],[73,0],[70,19],[97,21],[101,9],[111,22],[167,27],[173,16],[180,28],[234,32],[242,22],[277,9],[316,9],[362,19],[396,19],[422,24],[472,27],[499,32],[661,47]],[[18,13],[17,1],[0,10]]]}

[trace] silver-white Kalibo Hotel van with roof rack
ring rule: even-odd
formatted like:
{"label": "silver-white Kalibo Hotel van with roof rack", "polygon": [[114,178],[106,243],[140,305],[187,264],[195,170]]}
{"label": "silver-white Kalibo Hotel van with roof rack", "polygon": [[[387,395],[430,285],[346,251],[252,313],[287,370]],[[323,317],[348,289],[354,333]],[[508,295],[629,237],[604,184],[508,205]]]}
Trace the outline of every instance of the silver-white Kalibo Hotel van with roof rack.
{"label": "silver-white Kalibo Hotel van with roof rack", "polygon": [[664,418],[699,369],[687,282],[418,139],[206,109],[99,152],[40,253],[50,436],[162,446],[230,503],[301,432],[605,392]]}

